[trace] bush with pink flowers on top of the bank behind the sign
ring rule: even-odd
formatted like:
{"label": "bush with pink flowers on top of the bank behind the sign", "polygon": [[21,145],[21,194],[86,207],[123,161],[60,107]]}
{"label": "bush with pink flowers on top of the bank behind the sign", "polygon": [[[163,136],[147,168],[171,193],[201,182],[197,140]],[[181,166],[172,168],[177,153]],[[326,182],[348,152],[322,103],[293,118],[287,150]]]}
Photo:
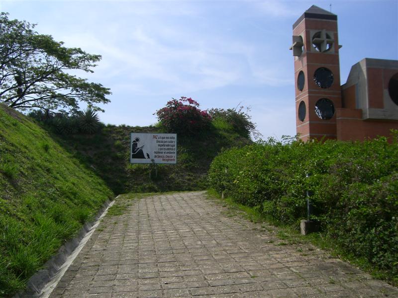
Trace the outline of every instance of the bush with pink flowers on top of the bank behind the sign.
{"label": "bush with pink flowers on top of the bank behind the sign", "polygon": [[156,111],[156,115],[161,126],[170,133],[197,134],[211,125],[207,111],[201,111],[197,101],[185,96],[168,101],[164,108]]}

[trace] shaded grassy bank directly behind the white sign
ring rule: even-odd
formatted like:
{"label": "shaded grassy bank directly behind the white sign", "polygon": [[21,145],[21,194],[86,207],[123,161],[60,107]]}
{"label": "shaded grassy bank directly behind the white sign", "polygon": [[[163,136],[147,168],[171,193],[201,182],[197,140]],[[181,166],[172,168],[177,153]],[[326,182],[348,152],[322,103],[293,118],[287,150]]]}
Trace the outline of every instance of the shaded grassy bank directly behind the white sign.
{"label": "shaded grassy bank directly behind the white sign", "polygon": [[234,129],[217,121],[199,136],[178,135],[177,164],[130,164],[130,133],[159,133],[159,128],[103,127],[95,135],[61,135],[58,140],[76,158],[92,168],[116,193],[202,190],[207,187],[207,171],[222,150],[252,143]]}

